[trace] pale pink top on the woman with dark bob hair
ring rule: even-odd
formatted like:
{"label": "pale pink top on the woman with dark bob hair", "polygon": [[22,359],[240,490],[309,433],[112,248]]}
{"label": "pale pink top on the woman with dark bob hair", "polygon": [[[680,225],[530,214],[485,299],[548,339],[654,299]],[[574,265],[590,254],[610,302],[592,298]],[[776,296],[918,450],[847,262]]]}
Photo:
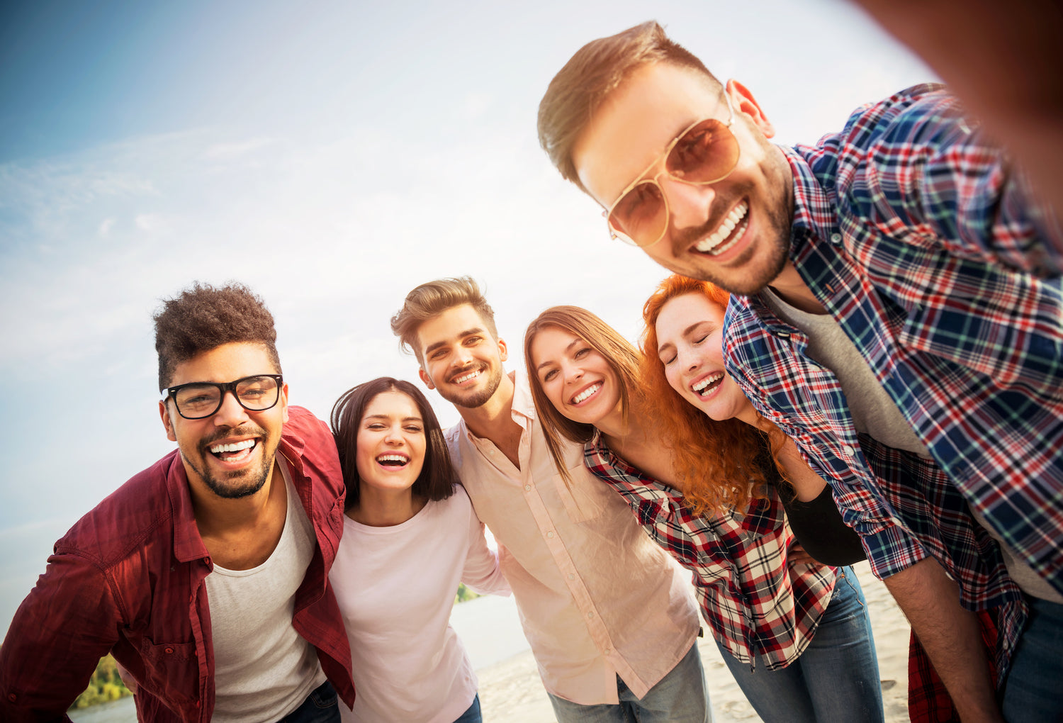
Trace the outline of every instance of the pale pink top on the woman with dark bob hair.
{"label": "pale pink top on the woman with dark bob hair", "polygon": [[450,626],[458,582],[508,594],[497,555],[469,497],[427,503],[402,524],[343,518],[328,573],[339,603],[357,696],[344,721],[452,723],[472,704],[476,675]]}

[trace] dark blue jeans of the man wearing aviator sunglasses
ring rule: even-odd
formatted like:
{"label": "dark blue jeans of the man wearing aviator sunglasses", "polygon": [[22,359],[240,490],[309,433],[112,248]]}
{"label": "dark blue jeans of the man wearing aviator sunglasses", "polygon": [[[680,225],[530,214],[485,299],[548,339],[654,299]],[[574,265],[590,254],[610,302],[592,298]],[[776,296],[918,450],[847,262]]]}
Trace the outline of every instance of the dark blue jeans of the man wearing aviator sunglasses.
{"label": "dark blue jeans of the man wearing aviator sunglasses", "polygon": [[1027,598],[1030,619],[1011,658],[1003,717],[1023,723],[1063,721],[1063,605]]}

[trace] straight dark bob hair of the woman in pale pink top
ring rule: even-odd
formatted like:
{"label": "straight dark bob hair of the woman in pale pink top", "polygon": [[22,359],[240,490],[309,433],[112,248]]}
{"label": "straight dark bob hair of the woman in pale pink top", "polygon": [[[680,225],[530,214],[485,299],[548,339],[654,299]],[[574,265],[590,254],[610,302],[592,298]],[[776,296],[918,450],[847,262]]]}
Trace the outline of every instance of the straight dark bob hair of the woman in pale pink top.
{"label": "straight dark bob hair of the woman in pale pink top", "polygon": [[442,427],[424,393],[405,380],[379,376],[344,391],[336,400],[328,418],[333,437],[336,439],[336,450],[339,453],[339,466],[343,471],[343,484],[347,485],[344,509],[351,509],[358,504],[358,485],[361,482],[357,461],[358,427],[361,425],[361,418],[369,403],[385,391],[399,391],[414,400],[418,411],[421,413],[421,421],[424,422],[424,465],[411,488],[414,494],[429,501],[445,500],[454,493],[454,486],[460,482],[458,473],[451,464],[451,454],[446,450]]}

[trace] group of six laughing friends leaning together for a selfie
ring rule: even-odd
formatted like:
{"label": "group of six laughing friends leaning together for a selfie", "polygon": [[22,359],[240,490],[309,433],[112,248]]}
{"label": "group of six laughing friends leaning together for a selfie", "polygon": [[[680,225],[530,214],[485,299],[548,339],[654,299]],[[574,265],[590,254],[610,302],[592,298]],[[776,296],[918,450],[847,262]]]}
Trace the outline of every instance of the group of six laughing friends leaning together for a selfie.
{"label": "group of six laughing friends leaning together for a selfie", "polygon": [[328,425],[289,406],[242,285],[165,302],[176,449],[56,542],[0,719],[62,720],[112,653],[146,721],[479,721],[463,582],[511,591],[563,723],[711,721],[704,633],[764,721],[882,721],[864,559],[911,622],[912,720],[1063,719],[1050,204],[940,85],[773,135],[656,22],[580,49],[540,141],[674,273],[638,346],[555,306],[508,373],[472,279],[417,286],[391,329],[445,432],[390,377]]}

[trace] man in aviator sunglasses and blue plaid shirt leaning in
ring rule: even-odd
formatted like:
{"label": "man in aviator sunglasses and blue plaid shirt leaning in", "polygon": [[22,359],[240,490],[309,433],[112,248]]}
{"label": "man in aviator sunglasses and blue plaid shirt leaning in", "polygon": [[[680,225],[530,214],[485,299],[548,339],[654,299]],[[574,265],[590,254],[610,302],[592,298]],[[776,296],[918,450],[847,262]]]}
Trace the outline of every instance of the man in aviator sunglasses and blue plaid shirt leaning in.
{"label": "man in aviator sunglasses and blue plaid shirt leaning in", "polygon": [[998,682],[1013,663],[1005,712],[1056,720],[1054,221],[941,86],[816,147],[773,135],[655,22],[588,44],[539,108],[543,148],[613,236],[735,295],[728,372],[830,482],[963,720],[999,720],[971,610],[995,623]]}

